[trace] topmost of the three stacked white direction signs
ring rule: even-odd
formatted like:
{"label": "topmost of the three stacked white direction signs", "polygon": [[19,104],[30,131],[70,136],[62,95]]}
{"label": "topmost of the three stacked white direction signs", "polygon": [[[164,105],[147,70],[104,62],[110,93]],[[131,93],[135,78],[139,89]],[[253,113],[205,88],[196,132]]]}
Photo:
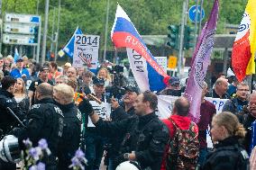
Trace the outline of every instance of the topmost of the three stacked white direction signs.
{"label": "topmost of the three stacked white direction signs", "polygon": [[5,13],[5,22],[37,23],[41,22],[41,17],[32,14]]}

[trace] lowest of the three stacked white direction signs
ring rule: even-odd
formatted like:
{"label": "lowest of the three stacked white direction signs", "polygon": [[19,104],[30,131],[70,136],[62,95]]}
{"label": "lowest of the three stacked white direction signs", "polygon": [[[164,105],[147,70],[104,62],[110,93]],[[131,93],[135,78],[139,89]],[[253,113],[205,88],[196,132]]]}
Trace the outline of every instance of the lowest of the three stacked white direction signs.
{"label": "lowest of the three stacked white direction signs", "polygon": [[19,35],[19,34],[3,34],[3,42],[5,44],[17,44],[17,45],[37,45],[34,42],[33,35]]}

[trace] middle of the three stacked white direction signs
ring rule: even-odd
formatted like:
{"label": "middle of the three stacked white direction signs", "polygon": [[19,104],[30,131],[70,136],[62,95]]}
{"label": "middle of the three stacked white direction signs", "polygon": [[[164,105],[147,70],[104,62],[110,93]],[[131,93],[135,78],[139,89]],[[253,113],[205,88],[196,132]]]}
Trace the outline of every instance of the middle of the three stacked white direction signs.
{"label": "middle of the three stacked white direction signs", "polygon": [[8,33],[34,34],[35,24],[23,24],[15,22],[5,22],[4,31]]}

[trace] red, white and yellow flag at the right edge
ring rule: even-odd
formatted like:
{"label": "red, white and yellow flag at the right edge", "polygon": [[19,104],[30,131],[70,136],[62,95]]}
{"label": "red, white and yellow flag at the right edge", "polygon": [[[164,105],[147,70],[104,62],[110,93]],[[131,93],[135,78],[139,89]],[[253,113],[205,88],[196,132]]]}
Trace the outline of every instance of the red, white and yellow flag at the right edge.
{"label": "red, white and yellow flag at the right edge", "polygon": [[255,74],[256,2],[249,0],[233,42],[232,67],[239,82]]}

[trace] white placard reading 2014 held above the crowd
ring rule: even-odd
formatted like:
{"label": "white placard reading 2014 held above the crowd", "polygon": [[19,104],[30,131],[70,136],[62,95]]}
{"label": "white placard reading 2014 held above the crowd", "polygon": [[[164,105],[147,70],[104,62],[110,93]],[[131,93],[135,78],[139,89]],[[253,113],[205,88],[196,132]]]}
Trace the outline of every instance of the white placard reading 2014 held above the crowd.
{"label": "white placard reading 2014 held above the crowd", "polygon": [[98,35],[75,34],[73,67],[96,69],[99,38]]}

